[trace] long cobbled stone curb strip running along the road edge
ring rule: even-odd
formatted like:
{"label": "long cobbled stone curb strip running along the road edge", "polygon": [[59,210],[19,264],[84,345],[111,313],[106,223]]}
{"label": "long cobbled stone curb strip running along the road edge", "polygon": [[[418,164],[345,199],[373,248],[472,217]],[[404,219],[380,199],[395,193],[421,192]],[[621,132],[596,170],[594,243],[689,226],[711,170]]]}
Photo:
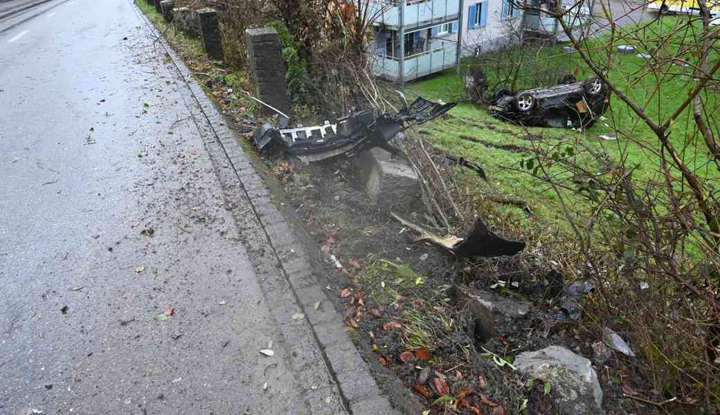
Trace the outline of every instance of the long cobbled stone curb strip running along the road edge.
{"label": "long cobbled stone curb strip running along the road edge", "polygon": [[[272,254],[284,274],[284,284],[282,281],[279,284],[274,281],[263,283],[266,294],[277,291],[274,293],[276,300],[268,298],[268,302],[279,329],[287,338],[302,337],[302,334],[299,335],[297,331],[298,329],[302,331],[304,327],[294,324],[291,317],[292,312],[289,309],[301,310],[307,321],[305,327],[310,332],[315,345],[319,347],[328,372],[341,393],[348,414],[398,414],[395,409],[392,409],[390,401],[382,395],[370,373],[369,365],[363,360],[354,343],[346,334],[342,316],[331,305],[333,300],[328,297],[327,290],[320,286],[318,278],[312,270],[312,265],[306,259],[308,252],[294,236],[282,212],[271,201],[271,192],[253,168],[251,159],[238,141],[240,138],[235,135],[233,129],[228,127],[222,114],[215,107],[215,103],[204,93],[202,86],[199,85],[184,61],[179,58],[143,11],[137,6],[135,8],[148,27],[158,36],[158,42],[170,56],[175,68],[189,87],[194,101],[212,129],[217,144],[220,145],[225,157],[230,162],[237,181],[253,210],[251,214],[255,216],[264,230],[265,237],[273,251]],[[283,291],[285,292],[283,293]],[[279,297],[277,297],[278,294]],[[294,306],[284,304],[283,300],[287,299],[292,300],[295,303]],[[322,305],[316,309],[317,301],[321,301]],[[302,360],[303,352],[300,349],[304,346],[307,345],[296,345],[297,355],[300,356],[299,360]],[[293,352],[293,355],[296,353]],[[292,366],[295,365],[291,364]]]}

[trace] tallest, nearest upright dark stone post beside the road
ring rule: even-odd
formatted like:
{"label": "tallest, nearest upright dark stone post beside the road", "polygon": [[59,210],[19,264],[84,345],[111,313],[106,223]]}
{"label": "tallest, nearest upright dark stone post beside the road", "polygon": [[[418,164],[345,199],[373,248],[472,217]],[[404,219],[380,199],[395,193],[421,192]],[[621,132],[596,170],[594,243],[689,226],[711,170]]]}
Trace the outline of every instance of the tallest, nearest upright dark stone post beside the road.
{"label": "tallest, nearest upright dark stone post beside the road", "polygon": [[256,96],[290,115],[285,63],[277,31],[271,27],[248,29],[246,38]]}

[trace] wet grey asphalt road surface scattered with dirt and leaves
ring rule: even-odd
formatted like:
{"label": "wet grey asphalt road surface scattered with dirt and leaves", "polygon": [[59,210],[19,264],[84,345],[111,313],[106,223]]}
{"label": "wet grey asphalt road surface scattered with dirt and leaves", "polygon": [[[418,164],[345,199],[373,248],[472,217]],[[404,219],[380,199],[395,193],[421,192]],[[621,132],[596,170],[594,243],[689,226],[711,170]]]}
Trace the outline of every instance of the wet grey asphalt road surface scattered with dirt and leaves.
{"label": "wet grey asphalt road surface scattered with dirt and leaves", "polygon": [[0,414],[297,413],[185,86],[130,0],[55,3],[0,32]]}

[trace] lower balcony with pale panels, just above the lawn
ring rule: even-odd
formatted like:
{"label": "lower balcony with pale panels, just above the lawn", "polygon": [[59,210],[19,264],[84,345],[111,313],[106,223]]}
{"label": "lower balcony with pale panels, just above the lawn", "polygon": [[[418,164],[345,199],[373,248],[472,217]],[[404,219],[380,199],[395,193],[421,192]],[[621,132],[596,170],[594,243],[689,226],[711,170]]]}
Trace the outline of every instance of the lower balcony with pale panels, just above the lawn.
{"label": "lower balcony with pale panels, just above the lawn", "polygon": [[439,72],[455,66],[457,47],[445,45],[427,52],[418,53],[405,58],[400,75],[400,60],[388,56],[377,56],[372,64],[375,76],[392,82],[414,81],[431,73]]}

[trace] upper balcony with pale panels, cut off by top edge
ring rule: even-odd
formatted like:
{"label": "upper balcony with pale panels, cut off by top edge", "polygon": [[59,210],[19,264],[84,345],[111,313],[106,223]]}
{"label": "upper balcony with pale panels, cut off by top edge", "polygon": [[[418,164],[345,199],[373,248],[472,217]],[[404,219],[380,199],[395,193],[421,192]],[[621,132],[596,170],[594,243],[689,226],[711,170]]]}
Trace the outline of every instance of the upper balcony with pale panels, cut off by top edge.
{"label": "upper balcony with pale panels, cut off by top edge", "polygon": [[405,0],[404,3],[402,21],[400,3],[396,0],[370,0],[369,15],[376,17],[376,24],[413,29],[457,19],[460,14],[459,0]]}

